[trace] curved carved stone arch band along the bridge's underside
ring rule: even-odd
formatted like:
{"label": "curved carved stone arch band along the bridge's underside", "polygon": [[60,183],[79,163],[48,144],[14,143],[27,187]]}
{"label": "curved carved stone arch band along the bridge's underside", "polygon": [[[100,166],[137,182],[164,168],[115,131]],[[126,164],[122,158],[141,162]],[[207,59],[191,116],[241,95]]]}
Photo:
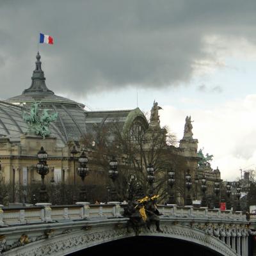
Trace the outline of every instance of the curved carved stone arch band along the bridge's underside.
{"label": "curved carved stone arch band along the bridge's underside", "polygon": [[[62,256],[84,250],[91,246],[136,236],[133,230],[127,232],[127,228],[123,221],[118,221],[116,223],[111,221],[111,223],[102,224],[97,225],[97,223],[95,223],[95,225],[83,226],[76,231],[66,229],[65,232],[58,236],[50,236],[47,239],[34,241],[33,243],[25,244],[24,246],[15,248],[9,252],[15,253],[17,256]],[[175,225],[173,224],[173,221],[163,221],[161,228],[163,233],[157,232],[154,227],[151,227],[150,230],[141,228],[139,236],[179,239],[180,241],[198,244],[198,246],[205,246],[205,248],[211,249],[212,252],[216,252],[216,255],[237,255],[234,250],[223,243],[218,237],[205,234],[204,231],[191,226]],[[5,252],[3,255],[13,254]]]}

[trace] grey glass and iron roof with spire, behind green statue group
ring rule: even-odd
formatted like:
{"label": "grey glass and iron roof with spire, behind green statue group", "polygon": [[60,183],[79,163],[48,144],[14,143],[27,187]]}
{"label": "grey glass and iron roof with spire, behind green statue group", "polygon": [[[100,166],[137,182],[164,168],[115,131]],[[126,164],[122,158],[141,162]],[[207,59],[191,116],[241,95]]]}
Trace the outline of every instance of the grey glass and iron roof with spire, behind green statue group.
{"label": "grey glass and iron roof with spire, behind green statue group", "polygon": [[118,120],[118,123],[124,126],[127,123],[127,118],[130,120],[129,123],[131,122],[129,116],[134,118],[131,112],[140,115],[140,118],[144,119],[145,125],[148,125],[145,116],[138,108],[118,111],[86,111],[83,104],[55,95],[45,84],[40,58],[38,52],[36,68],[31,77],[31,86],[21,95],[0,102],[0,134],[3,136],[18,135],[27,131],[26,122],[22,120],[22,109],[29,111],[34,102],[40,102],[40,108],[49,109],[49,113],[58,113],[51,132],[62,143],[72,140],[79,141],[84,134],[94,132],[96,127],[97,129],[103,127],[113,120]]}

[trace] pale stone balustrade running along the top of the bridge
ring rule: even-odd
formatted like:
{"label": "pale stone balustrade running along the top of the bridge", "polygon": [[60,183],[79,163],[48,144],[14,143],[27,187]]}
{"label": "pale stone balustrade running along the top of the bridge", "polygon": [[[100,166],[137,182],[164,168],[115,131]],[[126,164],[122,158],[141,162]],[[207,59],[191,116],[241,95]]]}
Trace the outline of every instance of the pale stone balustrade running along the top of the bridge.
{"label": "pale stone balustrade running along the top of the bridge", "polygon": [[[220,211],[220,209],[207,209],[207,207],[176,207],[176,205],[159,205],[159,212],[172,218],[207,218],[218,220],[246,221],[242,212]],[[124,205],[119,204],[77,204],[77,205],[51,205],[40,204],[33,207],[9,208],[0,206],[0,227],[33,224],[78,221],[87,218],[116,218],[121,217]]]}

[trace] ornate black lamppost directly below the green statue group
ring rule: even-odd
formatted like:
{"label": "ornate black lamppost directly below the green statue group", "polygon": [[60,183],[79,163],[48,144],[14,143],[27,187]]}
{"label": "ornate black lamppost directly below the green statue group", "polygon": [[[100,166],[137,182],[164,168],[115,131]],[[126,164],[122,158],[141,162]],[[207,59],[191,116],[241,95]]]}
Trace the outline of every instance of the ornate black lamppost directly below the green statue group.
{"label": "ornate black lamppost directly below the green statue group", "polygon": [[46,187],[44,184],[44,177],[49,173],[49,167],[47,165],[47,152],[44,150],[44,147],[37,153],[38,163],[36,164],[36,172],[41,175],[41,188],[40,188],[40,202],[47,202],[49,196],[47,195]]}

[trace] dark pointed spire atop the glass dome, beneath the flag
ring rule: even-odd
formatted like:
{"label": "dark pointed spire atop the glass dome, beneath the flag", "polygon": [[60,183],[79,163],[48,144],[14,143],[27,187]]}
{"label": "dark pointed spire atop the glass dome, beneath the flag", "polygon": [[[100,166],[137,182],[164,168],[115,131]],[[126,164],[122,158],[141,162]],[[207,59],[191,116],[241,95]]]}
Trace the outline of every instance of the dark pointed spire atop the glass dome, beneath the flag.
{"label": "dark pointed spire atop the glass dome, beneath the flag", "polygon": [[31,86],[24,90],[22,94],[54,94],[51,90],[49,90],[46,85],[45,85],[45,77],[44,77],[44,71],[42,71],[41,64],[42,62],[40,61],[40,54],[37,52],[36,54],[36,68],[33,71],[33,76],[31,77],[32,83]]}

